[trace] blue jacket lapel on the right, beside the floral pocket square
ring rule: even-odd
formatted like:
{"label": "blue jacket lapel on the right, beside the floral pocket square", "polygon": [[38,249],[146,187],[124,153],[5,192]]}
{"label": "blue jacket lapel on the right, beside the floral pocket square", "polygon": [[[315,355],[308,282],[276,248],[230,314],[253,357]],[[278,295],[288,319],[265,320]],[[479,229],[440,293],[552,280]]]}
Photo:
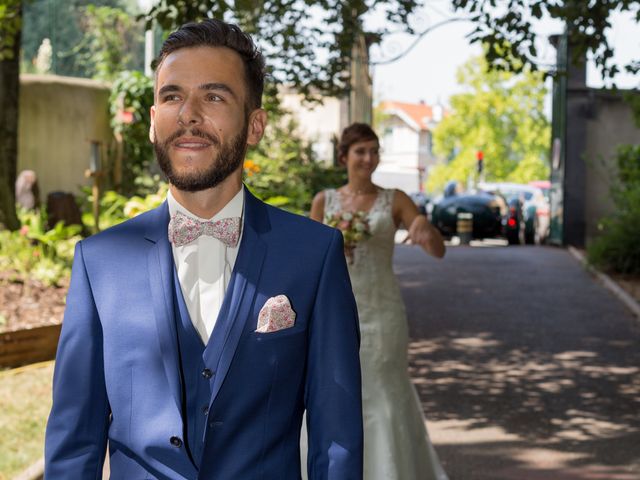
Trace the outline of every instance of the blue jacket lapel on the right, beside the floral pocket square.
{"label": "blue jacket lapel on the right, beside the floral pocket square", "polygon": [[[228,298],[225,298],[224,303],[229,302],[229,308],[227,318],[223,321],[228,323],[227,328],[224,329],[224,344],[214,377],[211,403],[214,402],[229,372],[242,331],[251,313],[251,305],[255,297],[264,257],[267,253],[267,245],[260,238],[261,233],[270,228],[267,214],[264,210],[264,204],[245,188],[244,231],[229,289],[225,295]],[[216,333],[214,332],[214,334]],[[207,350],[205,355],[218,349]]]}

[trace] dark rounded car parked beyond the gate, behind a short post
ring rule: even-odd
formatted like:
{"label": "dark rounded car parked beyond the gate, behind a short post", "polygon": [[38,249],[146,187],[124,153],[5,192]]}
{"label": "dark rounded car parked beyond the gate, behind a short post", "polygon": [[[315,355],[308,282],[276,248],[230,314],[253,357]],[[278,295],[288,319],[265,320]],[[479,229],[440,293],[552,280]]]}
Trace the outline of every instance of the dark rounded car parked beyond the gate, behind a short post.
{"label": "dark rounded car parked beyond the gate, behind a short post", "polygon": [[472,238],[503,237],[508,208],[500,194],[484,191],[463,192],[458,182],[449,182],[442,196],[434,199],[431,223],[445,237],[457,235],[459,213],[473,215]]}

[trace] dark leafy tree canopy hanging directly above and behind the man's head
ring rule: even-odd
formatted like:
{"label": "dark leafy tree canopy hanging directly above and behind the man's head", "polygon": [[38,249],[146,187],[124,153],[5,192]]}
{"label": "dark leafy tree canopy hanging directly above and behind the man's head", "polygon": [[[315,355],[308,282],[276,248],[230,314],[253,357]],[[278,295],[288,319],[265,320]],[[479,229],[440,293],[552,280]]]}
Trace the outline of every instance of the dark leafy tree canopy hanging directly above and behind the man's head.
{"label": "dark leafy tree canopy hanging directly above and behind the man's head", "polygon": [[[349,89],[352,48],[364,35],[378,41],[389,28],[412,32],[409,15],[420,0],[160,0],[146,15],[173,30],[187,21],[219,18],[238,24],[257,40],[276,81],[307,97],[342,95]],[[364,30],[363,19],[381,12],[391,27]]]}

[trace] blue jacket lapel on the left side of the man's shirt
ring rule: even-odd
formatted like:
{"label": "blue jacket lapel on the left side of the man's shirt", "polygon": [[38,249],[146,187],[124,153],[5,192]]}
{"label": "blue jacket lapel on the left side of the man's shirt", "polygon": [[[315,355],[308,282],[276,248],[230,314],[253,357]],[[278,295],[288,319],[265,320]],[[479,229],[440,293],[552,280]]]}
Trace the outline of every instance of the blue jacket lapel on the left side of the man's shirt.
{"label": "blue jacket lapel on the left side of the man's shirt", "polygon": [[149,285],[156,318],[158,340],[162,353],[169,388],[179,410],[181,410],[181,386],[178,366],[178,335],[173,305],[173,253],[167,234],[169,207],[165,201],[149,213],[149,225],[145,238],[153,243],[147,254]]}

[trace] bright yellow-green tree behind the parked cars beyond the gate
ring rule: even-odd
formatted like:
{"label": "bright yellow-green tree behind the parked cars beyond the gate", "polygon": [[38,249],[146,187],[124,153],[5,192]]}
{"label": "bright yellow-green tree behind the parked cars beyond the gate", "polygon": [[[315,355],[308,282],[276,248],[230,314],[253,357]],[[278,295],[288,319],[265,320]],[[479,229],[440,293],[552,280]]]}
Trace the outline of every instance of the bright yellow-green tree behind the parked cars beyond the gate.
{"label": "bright yellow-green tree behind the parked cars beyond the gate", "polygon": [[473,58],[457,73],[466,92],[451,97],[453,113],[434,131],[434,151],[450,161],[435,167],[430,191],[449,180],[475,175],[476,153],[484,153],[487,181],[527,182],[549,176],[549,122],[544,115],[546,89],[540,73],[487,71]]}

